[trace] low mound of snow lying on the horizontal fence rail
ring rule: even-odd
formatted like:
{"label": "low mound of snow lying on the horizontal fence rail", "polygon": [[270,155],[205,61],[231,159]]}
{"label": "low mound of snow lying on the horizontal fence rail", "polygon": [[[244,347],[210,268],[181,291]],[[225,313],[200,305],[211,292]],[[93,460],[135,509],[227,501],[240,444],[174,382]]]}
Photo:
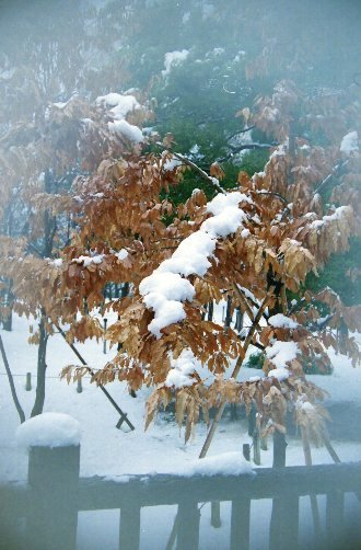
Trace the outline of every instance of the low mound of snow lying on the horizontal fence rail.
{"label": "low mound of snow lying on the horizontal fence rail", "polygon": [[175,473],[184,477],[191,475],[240,475],[242,473],[255,474],[251,463],[246,462],[242,452],[222,452],[213,457],[191,460],[187,466]]}

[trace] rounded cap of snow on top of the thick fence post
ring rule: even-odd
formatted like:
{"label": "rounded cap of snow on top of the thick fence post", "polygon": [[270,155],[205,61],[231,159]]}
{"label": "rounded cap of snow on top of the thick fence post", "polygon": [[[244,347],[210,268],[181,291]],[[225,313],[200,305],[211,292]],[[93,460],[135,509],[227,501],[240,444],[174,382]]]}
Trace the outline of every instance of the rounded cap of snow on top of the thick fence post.
{"label": "rounded cap of snow on top of the thick fence post", "polygon": [[67,447],[80,444],[79,422],[65,413],[43,413],[16,429],[20,447]]}

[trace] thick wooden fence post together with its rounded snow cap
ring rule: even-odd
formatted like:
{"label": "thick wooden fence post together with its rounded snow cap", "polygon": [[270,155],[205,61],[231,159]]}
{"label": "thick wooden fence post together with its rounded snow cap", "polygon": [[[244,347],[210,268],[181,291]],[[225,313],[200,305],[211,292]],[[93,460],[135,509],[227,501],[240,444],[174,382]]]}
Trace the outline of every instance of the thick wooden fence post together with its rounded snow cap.
{"label": "thick wooden fence post together with its rounded snow cap", "polygon": [[27,543],[31,548],[75,548],[79,422],[63,413],[39,414],[18,428],[16,439],[19,445],[30,447]]}

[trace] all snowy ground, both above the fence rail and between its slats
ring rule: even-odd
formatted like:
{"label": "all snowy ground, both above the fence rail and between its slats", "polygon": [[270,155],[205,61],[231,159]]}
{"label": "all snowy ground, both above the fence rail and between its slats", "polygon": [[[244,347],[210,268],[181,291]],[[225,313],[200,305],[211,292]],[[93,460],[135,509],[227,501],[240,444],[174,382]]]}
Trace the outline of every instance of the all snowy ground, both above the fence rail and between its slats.
{"label": "all snowy ground, both above the fence rail and between its slats", "polygon": [[[26,343],[26,320],[15,317],[13,332],[1,331],[1,336],[14,375],[19,399],[28,417],[35,398],[37,350],[36,346],[30,346]],[[94,368],[102,366],[104,359],[110,358],[110,355],[115,353],[108,352],[105,356],[103,354],[103,344],[96,344],[96,342],[90,342],[86,345],[78,344],[77,347]],[[331,359],[335,367],[334,375],[330,377],[312,377],[313,380],[331,394],[330,399],[333,401],[359,402],[361,368],[353,369],[347,359],[335,354]],[[107,389],[120,408],[128,413],[129,419],[136,426],[136,431],[129,433],[117,429],[115,427],[118,421],[117,412],[101,390],[89,383],[89,378],[83,380],[82,393],[77,393],[74,385],[68,386],[65,381],[59,380],[58,375],[63,366],[77,364],[73,352],[59,334],[54,335],[49,341],[47,363],[48,378],[45,411],[68,413],[80,422],[82,477],[98,474],[114,478],[129,473],[182,472],[187,468],[187,465],[191,467],[197,460],[206,436],[205,425],[200,424],[197,427],[195,438],[187,445],[184,444],[184,434],[179,434],[174,420],[162,414],[144,433],[144,402],[149,391],[142,391],[137,399],[132,399],[124,385],[115,382],[108,385]],[[25,375],[27,371],[32,371],[33,376],[32,391],[25,391]],[[258,374],[259,371],[244,368],[242,377],[246,379]],[[18,425],[19,416],[10,396],[4,367],[0,365],[0,482],[26,479],[27,455],[16,447],[14,440]],[[245,423],[242,421],[231,422],[229,417],[225,417],[212,443],[209,455],[216,456],[225,451],[240,452],[243,443],[249,443]],[[361,459],[361,434],[359,442],[333,443],[342,461]],[[331,458],[325,449],[313,449],[312,456],[315,463],[331,462]],[[261,466],[271,466],[271,460],[272,449],[271,445],[269,445],[269,449],[261,452]],[[287,463],[304,463],[302,445],[299,439],[289,438]],[[253,522],[257,522],[259,514],[267,515],[269,506],[270,503],[266,501],[253,505]],[[224,538],[225,531],[229,532],[230,527],[230,518],[226,512],[228,505],[225,503],[222,505],[222,528],[212,529],[211,539],[207,538],[207,530],[209,529],[202,529],[201,527],[200,548],[224,548],[222,540],[226,540]],[[160,508],[156,508],[156,511],[151,508],[142,511],[141,547],[143,549],[165,547],[174,513],[168,507],[164,511],[164,520],[158,522],[156,517],[159,517]],[[154,514],[158,514],[158,516]],[[307,508],[304,508],[302,514],[304,515],[304,522],[310,523]],[[104,522],[106,522],[106,532],[100,529]],[[267,522],[263,522],[261,527],[257,522],[257,529],[252,535],[252,537],[256,537],[253,548],[266,548],[264,545],[266,545],[267,540]],[[209,505],[202,508],[202,524],[205,526],[206,524],[209,525]],[[86,548],[86,550],[117,548],[118,525],[118,511],[80,513],[79,548]],[[149,546],[149,540],[153,541],[151,546]]]}

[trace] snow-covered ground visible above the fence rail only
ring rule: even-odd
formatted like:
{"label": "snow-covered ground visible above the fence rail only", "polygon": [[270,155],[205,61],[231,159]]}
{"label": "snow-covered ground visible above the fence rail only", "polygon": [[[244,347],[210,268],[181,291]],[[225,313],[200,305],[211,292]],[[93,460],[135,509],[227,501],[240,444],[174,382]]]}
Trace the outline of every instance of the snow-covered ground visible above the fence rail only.
{"label": "snow-covered ground visible above the fence rail only", "polygon": [[[1,331],[3,344],[12,373],[19,399],[30,416],[36,385],[36,353],[34,345],[27,344],[26,319],[14,318],[12,332]],[[103,354],[103,343],[90,341],[77,344],[78,350],[93,368],[100,368],[109,359],[115,350]],[[155,422],[147,432],[143,429],[144,404],[150,390],[145,389],[131,398],[124,383],[107,385],[120,408],[128,413],[135,424],[135,432],[126,433],[117,429],[119,420],[116,410],[107,401],[102,391],[90,385],[89,377],[83,379],[83,392],[77,392],[77,386],[67,385],[59,379],[62,367],[78,364],[71,348],[60,334],[55,334],[48,344],[46,412],[63,412],[72,415],[81,425],[81,474],[82,475],[123,475],[128,473],[175,472],[184,468],[198,457],[206,436],[205,424],[199,424],[195,437],[187,445],[184,434],[172,415],[159,414]],[[328,400],[336,402],[359,403],[361,396],[361,368],[353,368],[350,362],[331,353],[335,371],[331,376],[310,377],[330,394]],[[25,391],[26,373],[32,373],[33,389]],[[0,365],[0,440],[1,462],[0,480],[19,480],[26,478],[26,452],[15,445],[15,429],[19,416],[10,394],[9,382],[3,365]],[[247,379],[259,375],[259,370],[244,368],[241,377]],[[218,435],[210,448],[210,456],[226,451],[240,451],[243,443],[249,443],[242,422],[231,422],[224,417]],[[361,458],[360,443],[334,442],[335,448],[342,460],[358,460]],[[136,459],[135,459],[136,457]],[[269,450],[263,451],[263,466],[270,466],[272,459],[271,445]],[[329,462],[330,457],[325,449],[313,449],[315,463]],[[288,465],[303,463],[302,445],[299,439],[290,442],[287,454]]]}

